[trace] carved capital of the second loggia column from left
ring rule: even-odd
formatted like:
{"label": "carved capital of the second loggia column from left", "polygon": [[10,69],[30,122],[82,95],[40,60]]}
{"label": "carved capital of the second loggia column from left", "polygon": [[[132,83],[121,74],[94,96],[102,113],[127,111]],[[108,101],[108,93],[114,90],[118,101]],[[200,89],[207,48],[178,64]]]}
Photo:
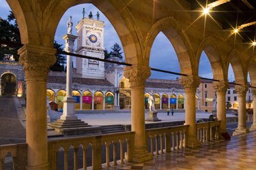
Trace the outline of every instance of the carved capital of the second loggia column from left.
{"label": "carved capital of the second loggia column from left", "polygon": [[145,86],[145,80],[151,75],[150,67],[134,65],[124,68],[124,77],[129,79],[132,87]]}

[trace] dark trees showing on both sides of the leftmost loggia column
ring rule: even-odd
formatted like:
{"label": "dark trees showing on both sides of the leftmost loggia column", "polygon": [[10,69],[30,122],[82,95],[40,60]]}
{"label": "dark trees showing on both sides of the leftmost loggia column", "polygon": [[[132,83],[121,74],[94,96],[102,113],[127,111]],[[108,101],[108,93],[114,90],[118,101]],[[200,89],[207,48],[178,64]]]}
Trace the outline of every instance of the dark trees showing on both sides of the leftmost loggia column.
{"label": "dark trees showing on both sides of the leftmost loggia column", "polygon": [[[14,22],[14,24],[12,24],[11,22]],[[7,20],[3,20],[0,18],[0,41],[4,42],[4,44],[0,45],[0,60],[3,60],[5,55],[10,54],[14,56],[15,61],[18,61],[17,51],[21,47],[18,45],[21,44],[20,31],[18,30],[18,24],[12,11],[10,11]],[[62,45],[57,44],[56,41],[54,41],[53,46],[57,50],[63,51],[63,48],[61,48]],[[57,61],[51,67],[51,70],[64,71],[63,64],[66,63],[66,56],[58,54],[56,57]]]}

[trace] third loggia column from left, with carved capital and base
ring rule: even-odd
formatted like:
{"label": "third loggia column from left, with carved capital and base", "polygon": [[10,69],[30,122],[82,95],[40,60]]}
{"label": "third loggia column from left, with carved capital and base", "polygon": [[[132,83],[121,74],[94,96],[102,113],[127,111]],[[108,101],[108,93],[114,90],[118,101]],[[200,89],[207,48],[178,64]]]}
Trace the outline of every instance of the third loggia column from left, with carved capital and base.
{"label": "third loggia column from left, with carved capital and base", "polygon": [[197,126],[195,123],[196,120],[196,110],[195,110],[195,92],[197,86],[200,84],[200,78],[195,75],[182,76],[180,79],[180,84],[184,86],[184,91],[186,95],[185,100],[185,124],[189,125],[188,129],[188,139],[186,143],[188,147],[194,148],[201,146],[201,142],[197,141]]}

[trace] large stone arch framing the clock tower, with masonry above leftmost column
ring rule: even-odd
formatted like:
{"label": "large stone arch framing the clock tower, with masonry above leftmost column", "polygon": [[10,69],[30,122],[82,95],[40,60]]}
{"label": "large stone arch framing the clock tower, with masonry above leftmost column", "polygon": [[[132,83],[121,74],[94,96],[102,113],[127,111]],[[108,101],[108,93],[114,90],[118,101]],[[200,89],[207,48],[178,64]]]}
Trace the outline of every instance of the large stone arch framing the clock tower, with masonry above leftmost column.
{"label": "large stone arch framing the clock tower, with masonry above leftmost column", "polygon": [[126,61],[132,64],[142,64],[141,44],[143,44],[143,38],[132,14],[122,1],[46,0],[38,2],[8,0],[8,3],[18,22],[22,43],[45,47],[53,47],[55,31],[66,10],[75,5],[92,3],[113,24],[122,42]]}

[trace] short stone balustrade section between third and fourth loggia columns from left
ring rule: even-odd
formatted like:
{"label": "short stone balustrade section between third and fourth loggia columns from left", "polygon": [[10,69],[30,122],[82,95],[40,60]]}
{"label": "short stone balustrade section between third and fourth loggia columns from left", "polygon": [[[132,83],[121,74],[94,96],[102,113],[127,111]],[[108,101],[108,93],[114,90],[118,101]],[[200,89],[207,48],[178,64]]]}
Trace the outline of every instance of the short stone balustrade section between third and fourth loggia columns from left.
{"label": "short stone balustrade section between third and fourth loggia columns from left", "polygon": [[197,140],[201,142],[218,140],[220,120],[197,123]]}

